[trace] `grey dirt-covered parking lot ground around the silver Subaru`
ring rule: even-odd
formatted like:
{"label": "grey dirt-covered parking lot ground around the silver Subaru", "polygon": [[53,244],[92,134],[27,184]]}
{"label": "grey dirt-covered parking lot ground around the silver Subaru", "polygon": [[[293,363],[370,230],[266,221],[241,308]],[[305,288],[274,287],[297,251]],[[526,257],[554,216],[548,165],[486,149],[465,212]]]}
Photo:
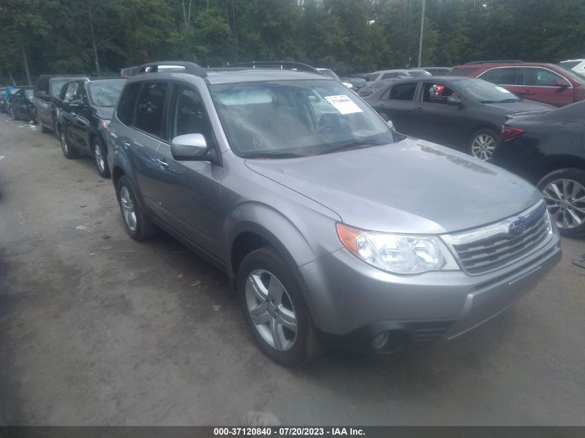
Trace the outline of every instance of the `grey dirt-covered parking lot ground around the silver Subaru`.
{"label": "grey dirt-covered parking lot ground around the silver Subaru", "polygon": [[138,243],[90,158],[0,116],[0,420],[19,425],[585,425],[585,239],[450,343],[305,369],[253,344],[224,275]]}

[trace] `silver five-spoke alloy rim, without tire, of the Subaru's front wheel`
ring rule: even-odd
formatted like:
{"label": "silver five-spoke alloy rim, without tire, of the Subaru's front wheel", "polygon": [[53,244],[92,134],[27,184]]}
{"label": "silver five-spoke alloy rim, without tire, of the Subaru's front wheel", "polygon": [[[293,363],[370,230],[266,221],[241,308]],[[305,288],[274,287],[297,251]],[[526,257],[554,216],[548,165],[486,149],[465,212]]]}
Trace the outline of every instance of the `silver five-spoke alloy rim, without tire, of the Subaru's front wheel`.
{"label": "silver five-spoke alloy rim, without tire, of the Subaru's front wheel", "polygon": [[262,339],[274,349],[291,349],[298,323],[285,286],[268,271],[256,269],[246,280],[245,293],[250,318]]}

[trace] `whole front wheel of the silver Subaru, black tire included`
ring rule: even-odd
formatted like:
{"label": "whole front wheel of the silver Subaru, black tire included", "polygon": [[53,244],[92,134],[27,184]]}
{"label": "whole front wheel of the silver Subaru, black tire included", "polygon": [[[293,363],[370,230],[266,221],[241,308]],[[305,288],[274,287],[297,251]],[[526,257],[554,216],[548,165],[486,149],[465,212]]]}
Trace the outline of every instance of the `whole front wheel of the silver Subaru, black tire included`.
{"label": "whole front wheel of the silver Subaru, black tire included", "polygon": [[262,352],[287,366],[321,354],[309,308],[286,262],[273,248],[246,255],[237,277],[246,324]]}

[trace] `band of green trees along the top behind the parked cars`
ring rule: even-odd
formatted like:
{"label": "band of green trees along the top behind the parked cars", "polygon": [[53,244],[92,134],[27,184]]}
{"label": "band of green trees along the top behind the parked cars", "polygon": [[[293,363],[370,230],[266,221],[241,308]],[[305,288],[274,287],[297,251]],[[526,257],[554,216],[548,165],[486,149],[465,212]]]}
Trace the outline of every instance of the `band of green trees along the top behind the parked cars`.
{"label": "band of green trees along the top behind the parked cars", "polygon": [[[0,78],[155,60],[417,65],[422,0],[2,0]],[[426,0],[422,64],[585,55],[583,0]]]}

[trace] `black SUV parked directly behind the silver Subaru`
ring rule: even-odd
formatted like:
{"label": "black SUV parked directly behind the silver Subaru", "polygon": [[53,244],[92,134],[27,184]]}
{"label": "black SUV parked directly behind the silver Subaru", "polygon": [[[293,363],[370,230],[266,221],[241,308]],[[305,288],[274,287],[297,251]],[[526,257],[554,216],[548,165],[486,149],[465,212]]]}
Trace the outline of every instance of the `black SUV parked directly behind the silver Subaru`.
{"label": "black SUV parked directly behind the silver Subaru", "polygon": [[67,82],[60,95],[57,136],[66,158],[93,156],[98,173],[109,177],[107,132],[125,79]]}

